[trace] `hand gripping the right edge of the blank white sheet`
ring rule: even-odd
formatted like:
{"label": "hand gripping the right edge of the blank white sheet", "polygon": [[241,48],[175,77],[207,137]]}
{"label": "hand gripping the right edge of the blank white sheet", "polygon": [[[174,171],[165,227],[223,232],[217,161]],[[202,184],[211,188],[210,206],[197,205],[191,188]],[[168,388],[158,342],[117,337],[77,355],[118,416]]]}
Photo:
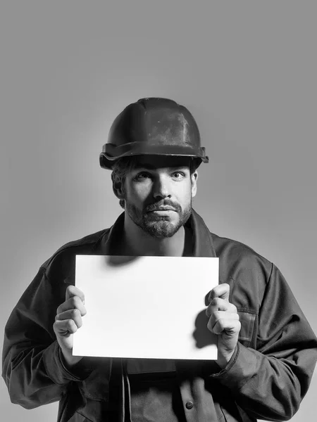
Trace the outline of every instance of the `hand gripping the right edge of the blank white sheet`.
{"label": "hand gripping the right edge of the blank white sheet", "polygon": [[206,315],[209,316],[207,327],[218,335],[218,360],[220,368],[230,361],[237,345],[241,324],[237,308],[229,302],[230,287],[219,284],[209,293],[209,306]]}

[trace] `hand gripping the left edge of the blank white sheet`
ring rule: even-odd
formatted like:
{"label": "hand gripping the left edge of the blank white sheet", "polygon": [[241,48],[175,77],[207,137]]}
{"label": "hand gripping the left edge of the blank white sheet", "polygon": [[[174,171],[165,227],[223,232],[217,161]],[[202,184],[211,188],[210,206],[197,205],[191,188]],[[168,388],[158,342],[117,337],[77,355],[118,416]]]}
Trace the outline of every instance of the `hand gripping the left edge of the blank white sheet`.
{"label": "hand gripping the left edge of the blank white sheet", "polygon": [[73,366],[82,359],[81,356],[73,356],[72,352],[73,333],[82,326],[82,316],[87,313],[84,304],[84,293],[75,286],[68,286],[66,300],[56,311],[53,329],[68,366]]}

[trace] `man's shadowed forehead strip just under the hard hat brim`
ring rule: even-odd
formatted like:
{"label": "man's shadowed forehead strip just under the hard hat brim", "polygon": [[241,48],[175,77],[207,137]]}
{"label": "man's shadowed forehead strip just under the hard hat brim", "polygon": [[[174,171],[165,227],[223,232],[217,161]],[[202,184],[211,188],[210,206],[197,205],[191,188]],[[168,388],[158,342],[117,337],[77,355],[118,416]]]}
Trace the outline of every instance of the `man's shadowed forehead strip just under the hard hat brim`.
{"label": "man's shadowed forehead strip just under the hard hat brim", "polygon": [[134,166],[137,168],[160,169],[164,167],[188,167],[190,157],[178,155],[135,155]]}

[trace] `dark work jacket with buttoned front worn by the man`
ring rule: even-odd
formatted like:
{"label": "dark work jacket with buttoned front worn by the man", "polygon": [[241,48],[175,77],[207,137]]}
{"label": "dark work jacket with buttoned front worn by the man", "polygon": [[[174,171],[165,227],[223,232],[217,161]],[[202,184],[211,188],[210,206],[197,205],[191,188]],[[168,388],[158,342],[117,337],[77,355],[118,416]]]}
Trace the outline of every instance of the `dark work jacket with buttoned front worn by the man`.
{"label": "dark work jacket with buttoned front worn by the man", "polygon": [[[75,283],[75,255],[118,255],[123,222],[124,213],[110,229],[60,248],[13,309],[3,351],[13,403],[32,409],[59,401],[58,422],[129,420],[125,361],[84,357],[68,370],[53,331],[56,309]],[[211,234],[194,211],[187,228],[194,256],[219,257],[220,283],[230,285],[241,322],[225,369],[212,361],[175,362],[187,422],[291,418],[309,388],[317,340],[290,288],[274,264],[242,243]]]}

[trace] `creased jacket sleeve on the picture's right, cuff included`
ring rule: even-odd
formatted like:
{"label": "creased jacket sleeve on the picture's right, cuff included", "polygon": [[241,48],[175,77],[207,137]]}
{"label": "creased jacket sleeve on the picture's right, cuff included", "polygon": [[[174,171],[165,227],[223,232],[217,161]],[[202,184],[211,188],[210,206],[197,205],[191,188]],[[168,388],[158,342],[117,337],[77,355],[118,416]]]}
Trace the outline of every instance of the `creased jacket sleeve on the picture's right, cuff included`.
{"label": "creased jacket sleeve on the picture's right, cuff included", "polygon": [[274,265],[259,310],[256,350],[238,343],[228,365],[212,376],[249,416],[292,418],[317,360],[317,340],[284,277]]}

